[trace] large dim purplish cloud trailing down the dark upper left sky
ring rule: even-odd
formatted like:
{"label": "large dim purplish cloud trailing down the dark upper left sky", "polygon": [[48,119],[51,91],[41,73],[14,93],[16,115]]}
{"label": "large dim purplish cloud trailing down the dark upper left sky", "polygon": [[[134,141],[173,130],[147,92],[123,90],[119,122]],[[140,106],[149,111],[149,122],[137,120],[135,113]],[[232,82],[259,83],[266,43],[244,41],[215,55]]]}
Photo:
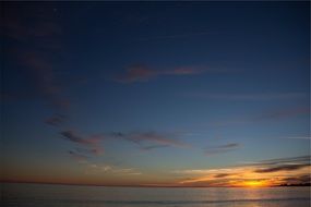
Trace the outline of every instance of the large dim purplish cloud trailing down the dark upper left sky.
{"label": "large dim purplish cloud trailing down the dark upper left sky", "polygon": [[62,50],[62,28],[50,9],[40,9],[29,7],[24,19],[14,7],[3,10],[3,35],[17,42],[9,44],[5,49],[27,74],[25,77],[35,84],[37,93],[34,94],[39,94],[50,106],[63,109],[69,107],[69,100],[62,96],[63,88],[52,64]]}

